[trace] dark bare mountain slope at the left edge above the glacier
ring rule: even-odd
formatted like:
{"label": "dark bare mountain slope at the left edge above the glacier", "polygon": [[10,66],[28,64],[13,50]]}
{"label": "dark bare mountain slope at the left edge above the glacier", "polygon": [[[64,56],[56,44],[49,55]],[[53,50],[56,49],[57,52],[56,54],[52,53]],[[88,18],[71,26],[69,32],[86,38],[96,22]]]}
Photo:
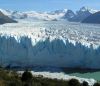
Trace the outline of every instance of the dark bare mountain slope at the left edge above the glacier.
{"label": "dark bare mountain slope at the left edge above the glacier", "polygon": [[0,11],[0,24],[4,24],[4,23],[16,23],[17,21],[9,18],[8,16],[4,15],[1,11]]}

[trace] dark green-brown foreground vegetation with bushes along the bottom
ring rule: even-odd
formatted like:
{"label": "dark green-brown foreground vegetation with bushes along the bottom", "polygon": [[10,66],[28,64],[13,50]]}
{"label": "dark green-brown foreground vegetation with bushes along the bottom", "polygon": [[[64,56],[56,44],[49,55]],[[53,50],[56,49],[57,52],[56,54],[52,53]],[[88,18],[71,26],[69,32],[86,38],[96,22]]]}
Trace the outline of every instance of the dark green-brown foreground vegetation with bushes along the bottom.
{"label": "dark green-brown foreground vegetation with bushes along the bottom", "polygon": [[[0,86],[89,86],[86,81],[80,83],[76,79],[68,81],[33,76],[31,72],[25,71],[22,75],[15,71],[0,69]],[[95,83],[93,86],[100,86]]]}

